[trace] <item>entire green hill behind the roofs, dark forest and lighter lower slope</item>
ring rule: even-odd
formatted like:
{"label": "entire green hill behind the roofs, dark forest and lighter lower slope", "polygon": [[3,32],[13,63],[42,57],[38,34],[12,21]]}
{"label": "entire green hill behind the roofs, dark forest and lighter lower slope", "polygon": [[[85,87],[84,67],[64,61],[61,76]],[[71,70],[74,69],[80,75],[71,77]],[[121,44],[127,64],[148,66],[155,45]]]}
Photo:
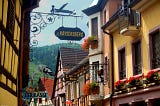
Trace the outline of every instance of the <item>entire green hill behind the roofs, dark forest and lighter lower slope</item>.
{"label": "entire green hill behind the roofs, dark forest and lighter lower slope", "polygon": [[[43,47],[34,47],[31,48],[30,52],[30,61],[29,64],[29,76],[30,79],[33,77],[33,85],[37,85],[37,81],[40,77],[51,77],[54,76],[46,76],[44,73],[42,73],[39,70],[40,65],[45,65],[48,68],[50,68],[55,73],[56,70],[56,62],[57,62],[57,53],[59,47],[69,47],[69,48],[81,48],[80,44],[73,44],[73,43],[61,43],[61,44],[55,44],[51,46],[43,46]],[[31,81],[29,82],[29,85],[31,85]]]}

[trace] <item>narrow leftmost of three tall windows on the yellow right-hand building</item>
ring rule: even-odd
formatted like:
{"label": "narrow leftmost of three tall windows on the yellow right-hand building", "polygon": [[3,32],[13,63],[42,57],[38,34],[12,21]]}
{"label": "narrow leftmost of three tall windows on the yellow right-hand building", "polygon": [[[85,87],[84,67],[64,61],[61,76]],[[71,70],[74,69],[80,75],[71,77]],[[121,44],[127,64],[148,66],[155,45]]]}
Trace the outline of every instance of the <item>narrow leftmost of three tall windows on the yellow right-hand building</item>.
{"label": "narrow leftmost of three tall windows on the yellow right-hand building", "polygon": [[125,59],[125,48],[118,51],[119,57],[119,79],[126,78],[126,59]]}

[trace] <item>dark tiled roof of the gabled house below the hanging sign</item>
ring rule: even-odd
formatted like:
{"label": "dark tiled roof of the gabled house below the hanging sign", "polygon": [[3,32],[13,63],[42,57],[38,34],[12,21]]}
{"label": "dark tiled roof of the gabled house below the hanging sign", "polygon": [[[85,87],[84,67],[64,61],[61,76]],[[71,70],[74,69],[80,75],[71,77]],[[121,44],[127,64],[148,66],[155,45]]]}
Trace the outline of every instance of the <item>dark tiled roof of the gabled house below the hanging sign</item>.
{"label": "dark tiled roof of the gabled house below the hanging sign", "polygon": [[88,56],[88,52],[84,52],[82,49],[74,49],[66,47],[60,48],[60,57],[63,68],[74,67],[86,56]]}

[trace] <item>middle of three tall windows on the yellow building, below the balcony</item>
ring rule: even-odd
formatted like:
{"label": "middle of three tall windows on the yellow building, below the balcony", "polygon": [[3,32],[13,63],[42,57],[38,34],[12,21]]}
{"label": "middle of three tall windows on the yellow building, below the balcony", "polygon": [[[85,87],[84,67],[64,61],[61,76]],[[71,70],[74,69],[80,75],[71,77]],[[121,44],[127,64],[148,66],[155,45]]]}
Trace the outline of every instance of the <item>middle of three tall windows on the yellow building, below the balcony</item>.
{"label": "middle of three tall windows on the yellow building, below the balcony", "polygon": [[141,41],[138,40],[132,44],[132,60],[133,60],[133,75],[142,73],[141,66]]}

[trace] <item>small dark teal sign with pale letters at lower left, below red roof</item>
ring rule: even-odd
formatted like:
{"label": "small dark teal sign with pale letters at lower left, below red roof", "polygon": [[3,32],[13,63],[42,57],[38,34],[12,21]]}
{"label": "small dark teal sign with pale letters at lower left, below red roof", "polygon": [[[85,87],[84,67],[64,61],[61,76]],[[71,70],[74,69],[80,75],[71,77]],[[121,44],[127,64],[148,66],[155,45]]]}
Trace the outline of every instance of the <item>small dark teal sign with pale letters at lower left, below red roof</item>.
{"label": "small dark teal sign with pale letters at lower left, below red roof", "polygon": [[48,98],[47,92],[33,92],[33,93],[23,93],[22,94],[24,99],[30,99],[30,98]]}

